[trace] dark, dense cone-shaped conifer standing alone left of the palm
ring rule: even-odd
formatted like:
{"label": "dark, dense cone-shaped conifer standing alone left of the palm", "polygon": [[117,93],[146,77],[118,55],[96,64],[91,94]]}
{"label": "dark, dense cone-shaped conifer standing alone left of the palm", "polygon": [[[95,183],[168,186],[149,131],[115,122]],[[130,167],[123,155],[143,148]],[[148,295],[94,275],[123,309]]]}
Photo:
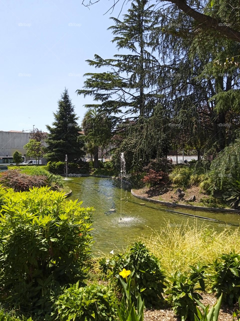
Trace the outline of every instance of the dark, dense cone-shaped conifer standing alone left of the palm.
{"label": "dark, dense cone-shaped conifer standing alone left of the palm", "polygon": [[52,127],[46,126],[49,135],[46,139],[48,147],[45,158],[48,161],[64,161],[67,154],[68,161],[80,160],[84,156],[84,143],[77,141],[81,128],[77,124],[78,117],[66,88],[58,101],[58,110],[53,115],[55,121]]}

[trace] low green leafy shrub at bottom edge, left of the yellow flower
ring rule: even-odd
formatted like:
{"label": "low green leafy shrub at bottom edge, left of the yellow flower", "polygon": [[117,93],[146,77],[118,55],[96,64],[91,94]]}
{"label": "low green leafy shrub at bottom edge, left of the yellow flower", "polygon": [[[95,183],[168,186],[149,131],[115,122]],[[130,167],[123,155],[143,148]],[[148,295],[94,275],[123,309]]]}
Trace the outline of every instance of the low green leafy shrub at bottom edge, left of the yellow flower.
{"label": "low green leafy shrub at bottom edge, left of the yellow flower", "polygon": [[116,297],[106,286],[79,287],[79,282],[66,289],[56,302],[57,320],[115,321]]}

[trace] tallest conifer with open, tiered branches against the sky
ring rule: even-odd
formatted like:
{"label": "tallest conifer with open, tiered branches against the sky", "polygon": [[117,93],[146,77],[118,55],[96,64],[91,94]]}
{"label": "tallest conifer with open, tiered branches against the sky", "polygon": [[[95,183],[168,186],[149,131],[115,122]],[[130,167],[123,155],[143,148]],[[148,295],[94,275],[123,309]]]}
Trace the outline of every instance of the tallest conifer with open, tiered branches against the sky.
{"label": "tallest conifer with open, tiered branches against the sky", "polygon": [[153,54],[154,29],[158,25],[153,7],[147,0],[134,0],[123,21],[111,18],[115,22],[109,28],[115,36],[112,42],[118,50],[128,53],[116,54],[113,59],[95,55],[94,60],[87,60],[90,66],[109,71],[85,74],[89,78],[84,89],[76,92],[98,102],[86,107],[108,113],[123,111],[126,115],[136,114],[135,118],[149,116],[157,102],[156,80],[161,75],[161,66]]}

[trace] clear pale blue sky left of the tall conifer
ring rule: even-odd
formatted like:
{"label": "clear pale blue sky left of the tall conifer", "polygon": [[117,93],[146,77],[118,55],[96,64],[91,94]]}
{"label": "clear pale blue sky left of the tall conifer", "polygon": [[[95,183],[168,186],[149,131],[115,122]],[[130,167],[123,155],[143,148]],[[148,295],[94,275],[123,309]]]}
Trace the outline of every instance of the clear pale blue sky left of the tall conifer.
{"label": "clear pale blue sky left of the tall conifer", "polygon": [[84,73],[95,70],[85,60],[116,53],[107,28],[120,6],[103,15],[111,3],[101,0],[89,10],[82,0],[0,1],[0,130],[35,125],[46,131],[65,86],[81,123],[83,105],[92,100],[75,91],[82,88]]}

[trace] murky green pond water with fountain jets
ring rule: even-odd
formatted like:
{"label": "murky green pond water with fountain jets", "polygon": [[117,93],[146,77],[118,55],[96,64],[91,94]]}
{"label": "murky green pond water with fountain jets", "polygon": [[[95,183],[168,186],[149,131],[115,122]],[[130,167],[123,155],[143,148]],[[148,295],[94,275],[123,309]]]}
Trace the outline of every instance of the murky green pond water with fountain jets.
{"label": "murky green pond water with fountain jets", "polygon": [[[240,224],[240,215],[236,213],[218,213],[209,211],[195,211],[180,207],[167,207],[161,204],[148,202],[133,196],[130,187],[123,183],[122,205],[120,181],[111,178],[76,177],[66,181],[72,190],[69,199],[83,201],[82,206],[93,206],[92,235],[95,240],[93,252],[107,253],[111,250],[122,250],[128,241],[138,239],[140,236],[151,236],[155,231],[160,231],[163,225],[171,227],[180,226],[188,221],[191,226],[209,226],[214,230],[223,230],[226,224],[200,218],[189,217],[182,212],[204,216],[226,223]],[[145,203],[141,205],[140,203]],[[122,206],[122,220],[120,212]],[[109,212],[115,209],[115,212]],[[171,210],[174,212],[168,212]],[[235,229],[235,226],[231,226]]]}

